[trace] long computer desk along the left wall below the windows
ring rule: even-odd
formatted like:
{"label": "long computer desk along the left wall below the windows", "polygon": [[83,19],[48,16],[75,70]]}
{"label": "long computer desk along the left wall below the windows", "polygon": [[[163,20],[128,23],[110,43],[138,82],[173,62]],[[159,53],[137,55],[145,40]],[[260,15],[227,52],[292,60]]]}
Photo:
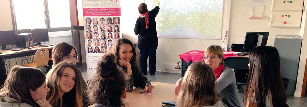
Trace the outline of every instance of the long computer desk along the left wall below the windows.
{"label": "long computer desk along the left wall below the windows", "polygon": [[[54,46],[48,46],[48,47],[44,47],[47,48],[49,50],[49,52],[51,52],[52,48]],[[27,48],[19,50],[19,51],[12,51],[12,50],[0,50],[0,52],[2,52],[2,54],[0,54],[0,85],[2,85],[6,79],[6,69],[5,69],[5,60],[6,59],[11,59],[11,58],[17,58],[17,57],[24,57],[24,56],[30,56],[30,55],[34,55],[35,52],[40,49],[43,48],[43,46],[33,46],[32,50],[28,50]]]}

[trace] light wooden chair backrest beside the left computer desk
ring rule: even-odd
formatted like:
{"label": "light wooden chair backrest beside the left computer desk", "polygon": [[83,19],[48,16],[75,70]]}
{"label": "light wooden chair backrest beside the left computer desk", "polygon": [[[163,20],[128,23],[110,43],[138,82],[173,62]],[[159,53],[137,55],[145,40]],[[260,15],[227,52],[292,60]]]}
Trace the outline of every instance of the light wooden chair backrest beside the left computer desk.
{"label": "light wooden chair backrest beside the left computer desk", "polygon": [[41,48],[36,51],[34,55],[34,62],[36,63],[36,67],[41,67],[48,65],[49,60],[49,50],[47,48]]}

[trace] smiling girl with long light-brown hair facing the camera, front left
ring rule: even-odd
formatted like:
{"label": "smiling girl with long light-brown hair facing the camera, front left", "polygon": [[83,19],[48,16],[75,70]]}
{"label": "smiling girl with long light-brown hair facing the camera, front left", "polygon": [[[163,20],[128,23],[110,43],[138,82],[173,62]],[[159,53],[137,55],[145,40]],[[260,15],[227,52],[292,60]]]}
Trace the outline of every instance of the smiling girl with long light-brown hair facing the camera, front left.
{"label": "smiling girl with long light-brown hair facing the camera, front left", "polygon": [[60,62],[46,75],[50,89],[47,100],[53,107],[83,107],[81,78],[81,72],[74,64]]}

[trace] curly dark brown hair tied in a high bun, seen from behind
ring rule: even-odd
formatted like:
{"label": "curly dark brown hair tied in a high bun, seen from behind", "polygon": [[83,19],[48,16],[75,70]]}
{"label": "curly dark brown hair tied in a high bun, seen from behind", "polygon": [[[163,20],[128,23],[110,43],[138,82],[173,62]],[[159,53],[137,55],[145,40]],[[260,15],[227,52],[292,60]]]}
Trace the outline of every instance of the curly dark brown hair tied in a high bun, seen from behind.
{"label": "curly dark brown hair tied in a high bun, seen from behind", "polygon": [[97,103],[112,107],[125,106],[121,97],[128,76],[123,73],[114,59],[114,54],[106,53],[98,61],[96,71],[86,91],[91,104]]}

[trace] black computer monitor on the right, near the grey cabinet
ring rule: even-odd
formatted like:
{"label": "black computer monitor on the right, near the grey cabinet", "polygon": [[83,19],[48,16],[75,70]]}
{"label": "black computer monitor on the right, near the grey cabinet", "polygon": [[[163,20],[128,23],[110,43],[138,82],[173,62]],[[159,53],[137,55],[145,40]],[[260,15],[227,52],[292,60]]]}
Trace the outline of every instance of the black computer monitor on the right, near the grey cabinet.
{"label": "black computer monitor on the right, near the grey cabinet", "polygon": [[257,46],[266,46],[269,32],[247,32],[244,40],[243,49],[241,51],[249,52]]}

